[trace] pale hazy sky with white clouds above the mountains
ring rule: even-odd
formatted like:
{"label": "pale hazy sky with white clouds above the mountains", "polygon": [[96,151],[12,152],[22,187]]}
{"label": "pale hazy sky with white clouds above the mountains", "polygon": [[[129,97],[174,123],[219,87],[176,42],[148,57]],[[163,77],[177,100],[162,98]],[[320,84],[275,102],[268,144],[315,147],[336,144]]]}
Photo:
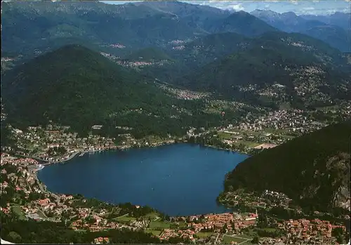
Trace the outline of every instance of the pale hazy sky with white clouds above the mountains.
{"label": "pale hazy sky with white clouds above the mountains", "polygon": [[[126,4],[133,1],[102,1],[106,4]],[[339,12],[350,12],[351,1],[347,0],[268,0],[268,1],[225,1],[225,0],[207,0],[207,1],[184,1],[190,4],[209,5],[222,9],[234,9],[235,11],[251,12],[257,9],[270,9],[278,13],[293,11],[296,14],[330,14]]]}

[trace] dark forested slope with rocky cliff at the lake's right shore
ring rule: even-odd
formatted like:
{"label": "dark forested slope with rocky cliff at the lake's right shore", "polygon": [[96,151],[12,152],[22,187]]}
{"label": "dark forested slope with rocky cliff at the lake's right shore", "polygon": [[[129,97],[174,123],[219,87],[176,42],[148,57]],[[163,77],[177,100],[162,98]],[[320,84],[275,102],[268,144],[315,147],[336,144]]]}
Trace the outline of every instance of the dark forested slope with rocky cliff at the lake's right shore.
{"label": "dark forested slope with rocky cliff at the lake's right shore", "polygon": [[347,121],[264,150],[227,174],[225,190],[273,190],[314,210],[350,210],[350,137]]}

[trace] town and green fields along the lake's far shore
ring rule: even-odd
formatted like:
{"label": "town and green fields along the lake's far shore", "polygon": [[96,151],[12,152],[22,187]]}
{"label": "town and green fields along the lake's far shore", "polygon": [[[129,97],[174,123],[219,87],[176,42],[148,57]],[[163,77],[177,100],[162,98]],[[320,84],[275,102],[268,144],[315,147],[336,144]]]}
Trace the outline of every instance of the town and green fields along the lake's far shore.
{"label": "town and green fields along the lake's far shore", "polygon": [[[225,105],[227,102],[215,100],[212,103]],[[328,112],[338,115],[341,119],[350,118],[351,102],[331,108]],[[225,117],[225,114],[223,116]],[[6,114],[1,116],[1,120],[4,119]],[[168,138],[160,138],[150,135],[140,139],[133,138],[133,135],[128,133],[131,129],[128,126],[116,126],[126,133],[119,134],[118,138],[107,138],[98,134],[102,125],[94,125],[91,127],[91,133],[81,138],[78,133],[71,131],[69,126],[60,126],[54,122],[46,127],[29,126],[25,131],[7,125],[8,130],[13,133],[16,149],[1,146],[1,150],[17,156],[32,157],[46,164],[67,161],[85,152],[155,147],[177,142],[199,143],[245,154],[256,154],[260,150],[275,147],[304,133],[327,126],[331,119],[333,117],[321,120],[315,112],[304,110],[279,110],[258,115],[249,113],[237,124],[228,123],[207,129],[190,127],[183,138],[171,135],[168,135]]]}

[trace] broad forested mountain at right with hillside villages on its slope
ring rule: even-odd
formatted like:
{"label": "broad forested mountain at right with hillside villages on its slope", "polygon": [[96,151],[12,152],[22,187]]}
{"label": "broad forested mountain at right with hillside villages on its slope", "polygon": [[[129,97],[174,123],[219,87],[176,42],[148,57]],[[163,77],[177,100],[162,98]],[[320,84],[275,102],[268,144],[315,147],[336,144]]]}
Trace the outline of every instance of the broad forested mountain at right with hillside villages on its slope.
{"label": "broad forested mountain at right with hillside villages on its slope", "polygon": [[249,86],[259,95],[276,91],[274,84],[281,84],[285,87],[278,91],[280,95],[270,100],[317,105],[350,98],[350,81],[350,65],[336,49],[303,34],[271,32],[178,79],[178,84],[218,91],[228,98]]}

